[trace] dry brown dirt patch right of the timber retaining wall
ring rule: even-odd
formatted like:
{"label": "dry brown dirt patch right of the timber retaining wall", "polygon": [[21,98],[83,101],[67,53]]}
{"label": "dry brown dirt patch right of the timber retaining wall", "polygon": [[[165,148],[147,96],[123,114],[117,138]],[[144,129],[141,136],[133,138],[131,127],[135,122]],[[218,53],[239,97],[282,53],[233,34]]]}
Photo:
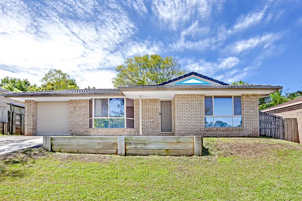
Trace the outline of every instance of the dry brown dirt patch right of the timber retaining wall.
{"label": "dry brown dirt patch right of the timber retaining wall", "polygon": [[255,139],[244,139],[240,141],[237,138],[236,140],[230,141],[218,141],[215,144],[215,149],[217,155],[258,158],[273,155],[275,154],[274,150],[290,149],[302,151],[302,146],[290,142],[266,143],[265,139],[258,139],[258,143],[255,143]]}

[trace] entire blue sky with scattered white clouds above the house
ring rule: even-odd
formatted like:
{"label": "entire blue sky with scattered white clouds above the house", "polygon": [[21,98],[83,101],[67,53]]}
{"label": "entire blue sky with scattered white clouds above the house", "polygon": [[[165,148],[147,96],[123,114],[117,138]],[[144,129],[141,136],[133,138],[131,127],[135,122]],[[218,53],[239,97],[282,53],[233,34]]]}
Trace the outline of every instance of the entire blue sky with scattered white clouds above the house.
{"label": "entire blue sky with scattered white clouds above the house", "polygon": [[224,82],[302,86],[302,2],[0,1],[0,78],[61,69],[82,88],[112,88],[134,55],[174,56]]}

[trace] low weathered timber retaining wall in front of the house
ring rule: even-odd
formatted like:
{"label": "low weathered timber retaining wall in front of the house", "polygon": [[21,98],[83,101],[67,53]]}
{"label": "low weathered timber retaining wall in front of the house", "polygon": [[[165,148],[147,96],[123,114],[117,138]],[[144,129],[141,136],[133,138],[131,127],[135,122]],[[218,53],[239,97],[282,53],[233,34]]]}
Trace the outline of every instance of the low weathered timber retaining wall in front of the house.
{"label": "low weathered timber retaining wall in front of the house", "polygon": [[117,155],[201,156],[201,136],[43,136],[48,151]]}

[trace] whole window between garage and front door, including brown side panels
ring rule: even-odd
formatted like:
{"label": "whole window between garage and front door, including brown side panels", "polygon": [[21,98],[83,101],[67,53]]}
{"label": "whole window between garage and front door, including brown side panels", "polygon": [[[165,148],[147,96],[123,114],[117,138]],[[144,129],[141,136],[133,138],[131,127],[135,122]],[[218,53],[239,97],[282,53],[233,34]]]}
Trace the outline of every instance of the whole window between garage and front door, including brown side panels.
{"label": "whole window between garage and front door, including brown side panels", "polygon": [[93,115],[90,115],[89,119],[90,127],[134,128],[134,116],[132,115],[134,114],[134,104],[132,102],[133,100],[129,98],[93,98],[90,103],[90,107],[93,108],[91,110]]}

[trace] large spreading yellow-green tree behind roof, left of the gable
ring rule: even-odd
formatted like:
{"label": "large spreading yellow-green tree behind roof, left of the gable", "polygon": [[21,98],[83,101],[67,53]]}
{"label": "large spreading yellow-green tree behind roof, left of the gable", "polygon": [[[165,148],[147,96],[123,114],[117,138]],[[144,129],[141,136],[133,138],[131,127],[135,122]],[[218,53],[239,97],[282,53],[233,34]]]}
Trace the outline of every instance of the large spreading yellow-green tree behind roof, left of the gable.
{"label": "large spreading yellow-green tree behind roof, left of the gable", "polygon": [[115,87],[158,84],[186,73],[176,58],[158,54],[134,56],[116,66],[115,71],[117,75],[112,80]]}

